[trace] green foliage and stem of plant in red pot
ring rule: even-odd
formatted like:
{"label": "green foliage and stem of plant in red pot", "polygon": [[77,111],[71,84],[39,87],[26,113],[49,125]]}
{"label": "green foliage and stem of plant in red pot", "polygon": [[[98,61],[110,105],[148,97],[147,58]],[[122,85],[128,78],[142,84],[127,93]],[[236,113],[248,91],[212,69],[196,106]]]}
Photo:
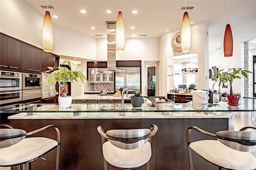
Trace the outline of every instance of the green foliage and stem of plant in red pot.
{"label": "green foliage and stem of plant in red pot", "polygon": [[[248,78],[248,73],[252,73],[248,70],[244,70],[243,68],[228,68],[227,72],[221,73],[223,70],[218,70],[216,73],[212,75],[211,78],[215,80],[214,84],[216,82],[219,82],[219,87],[221,84],[224,84],[226,82],[230,83],[230,95],[234,95],[232,90],[232,82],[234,79],[239,78],[241,79],[243,76],[245,78]],[[212,87],[214,87],[214,84]]]}

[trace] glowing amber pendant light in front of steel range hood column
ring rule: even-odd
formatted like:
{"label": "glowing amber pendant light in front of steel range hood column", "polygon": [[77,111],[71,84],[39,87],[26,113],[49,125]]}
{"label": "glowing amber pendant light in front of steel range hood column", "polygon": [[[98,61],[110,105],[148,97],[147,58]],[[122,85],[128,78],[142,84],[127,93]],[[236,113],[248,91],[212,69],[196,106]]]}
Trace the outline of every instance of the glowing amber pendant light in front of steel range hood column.
{"label": "glowing amber pendant light in front of steel range hood column", "polygon": [[[121,3],[121,1],[119,1]],[[120,4],[119,4],[120,7]],[[117,20],[116,20],[116,51],[124,52],[124,19],[122,12],[118,12]]]}

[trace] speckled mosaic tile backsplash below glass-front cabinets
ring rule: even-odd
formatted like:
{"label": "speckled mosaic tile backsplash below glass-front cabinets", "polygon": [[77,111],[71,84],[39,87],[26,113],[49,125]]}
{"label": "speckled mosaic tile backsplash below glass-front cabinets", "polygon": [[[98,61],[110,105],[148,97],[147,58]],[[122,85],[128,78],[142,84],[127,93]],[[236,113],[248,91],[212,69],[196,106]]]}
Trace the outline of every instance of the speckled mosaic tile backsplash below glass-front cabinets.
{"label": "speckled mosaic tile backsplash below glass-front cabinets", "polygon": [[100,90],[114,91],[114,83],[84,83],[85,92],[96,92]]}

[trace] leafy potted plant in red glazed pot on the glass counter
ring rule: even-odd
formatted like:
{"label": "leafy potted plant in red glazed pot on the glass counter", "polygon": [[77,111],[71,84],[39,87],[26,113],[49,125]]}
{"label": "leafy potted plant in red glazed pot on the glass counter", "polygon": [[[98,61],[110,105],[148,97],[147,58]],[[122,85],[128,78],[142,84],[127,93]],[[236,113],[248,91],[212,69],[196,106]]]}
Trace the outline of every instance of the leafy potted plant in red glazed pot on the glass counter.
{"label": "leafy potted plant in red glazed pot on the glass counter", "polygon": [[[230,84],[230,93],[227,95],[228,98],[228,105],[230,106],[238,106],[238,102],[240,99],[239,95],[234,95],[232,90],[232,82],[234,79],[239,78],[241,79],[243,76],[245,78],[248,78],[247,73],[252,73],[248,70],[244,70],[243,68],[228,68],[227,72],[221,73],[223,70],[218,70],[216,73],[212,75],[211,78],[215,80],[214,84],[216,82],[219,82],[219,87],[221,84],[224,84],[226,82],[229,82]],[[214,84],[212,87],[214,87]]]}

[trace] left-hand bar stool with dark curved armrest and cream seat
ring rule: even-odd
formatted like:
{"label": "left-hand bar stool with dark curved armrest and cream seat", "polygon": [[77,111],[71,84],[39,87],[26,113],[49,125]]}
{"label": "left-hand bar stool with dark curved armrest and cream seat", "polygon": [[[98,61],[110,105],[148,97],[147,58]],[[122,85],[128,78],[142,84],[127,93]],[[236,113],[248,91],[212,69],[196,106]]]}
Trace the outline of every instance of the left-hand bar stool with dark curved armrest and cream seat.
{"label": "left-hand bar stool with dark curved armrest and cream seat", "polygon": [[[56,170],[59,170],[60,164],[60,129],[55,125],[48,125],[43,128],[26,132],[25,130],[16,129],[9,124],[0,125],[0,166],[18,166],[23,170],[31,170],[31,162],[42,158],[45,154],[57,148],[56,154]],[[55,128],[57,132],[57,140],[45,137],[28,137],[37,134],[49,128]]]}

